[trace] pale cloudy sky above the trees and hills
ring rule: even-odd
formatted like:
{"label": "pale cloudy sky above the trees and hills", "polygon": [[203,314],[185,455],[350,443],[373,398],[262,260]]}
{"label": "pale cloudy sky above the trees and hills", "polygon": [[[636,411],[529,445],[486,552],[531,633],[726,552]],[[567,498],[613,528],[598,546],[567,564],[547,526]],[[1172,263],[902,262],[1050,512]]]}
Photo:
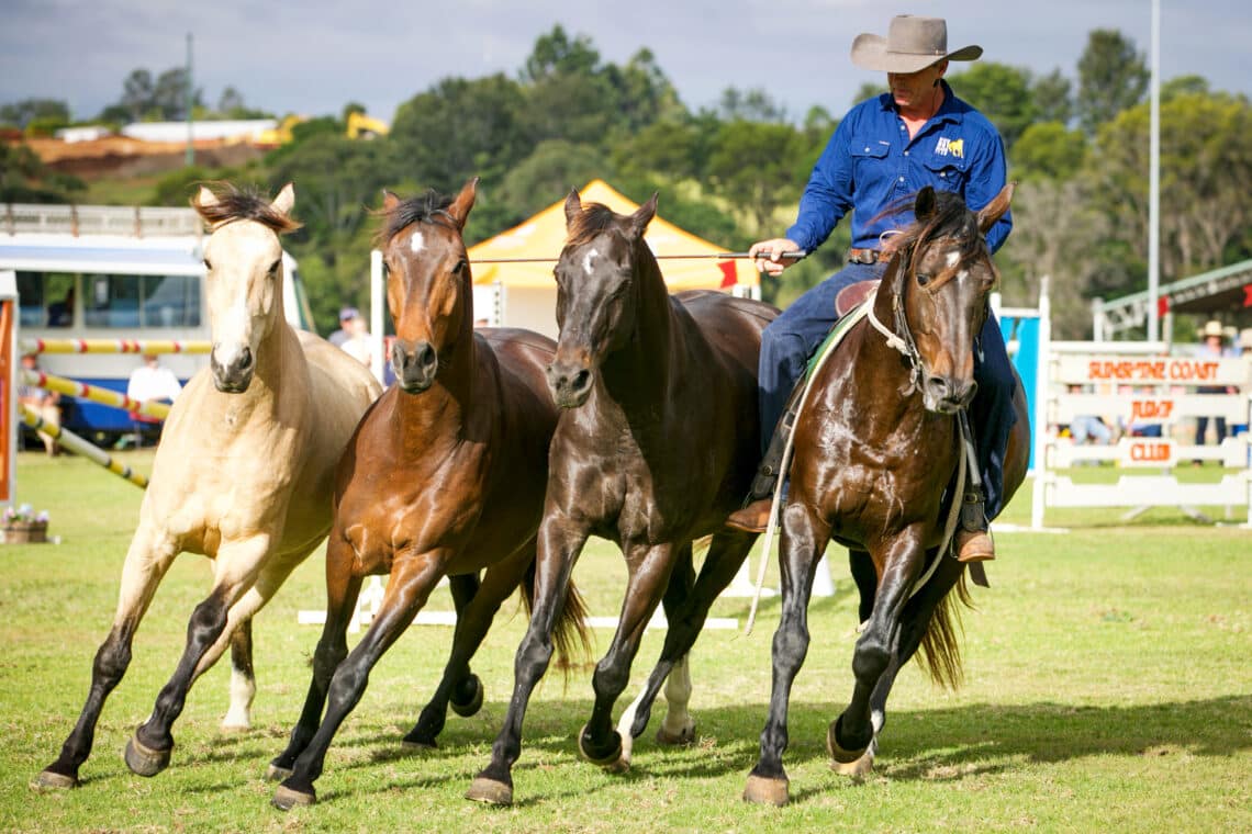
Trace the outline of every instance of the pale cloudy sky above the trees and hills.
{"label": "pale cloudy sky above the trees and hills", "polygon": [[[1201,75],[1214,90],[1252,94],[1247,0],[1159,0],[1161,78]],[[338,115],[359,101],[391,121],[442,78],[516,76],[538,36],[561,24],[587,35],[603,61],[642,48],[691,110],[729,86],[762,89],[803,120],[814,105],[840,116],[880,74],[848,55],[860,33],[886,34],[894,14],[948,19],[950,50],[1059,69],[1077,80],[1093,29],[1117,29],[1151,51],[1151,0],[0,0],[0,104],[60,99],[89,119],[121,98],[131,70],[155,78],[187,60],[214,105],[227,86],[277,114]],[[954,65],[955,71],[960,65]]]}

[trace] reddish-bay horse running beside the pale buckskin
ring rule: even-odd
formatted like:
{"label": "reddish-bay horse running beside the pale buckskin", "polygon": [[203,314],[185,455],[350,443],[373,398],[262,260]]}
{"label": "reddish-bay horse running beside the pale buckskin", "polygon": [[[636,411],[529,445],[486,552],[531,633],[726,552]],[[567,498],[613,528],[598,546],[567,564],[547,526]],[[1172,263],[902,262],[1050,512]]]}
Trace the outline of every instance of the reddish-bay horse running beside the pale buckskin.
{"label": "reddish-bay horse running beside the pale buckskin", "polygon": [[[326,628],[304,711],[270,765],[272,776],[285,776],[273,799],[282,809],[314,801],[313,781],[336,730],[364,691],[369,670],[439,579],[451,576],[457,626],[434,698],[404,736],[414,745],[434,745],[449,700],[461,715],[478,710],[482,683],[470,671],[470,659],[520,583],[528,600],[557,420],[545,378],[556,345],[526,330],[473,330],[473,283],[461,231],[477,181],[456,199],[433,193],[384,199],[381,239],[397,383],[367,413],[339,463]],[[348,623],[371,574],[389,574],[387,593],[348,654]],[[578,638],[586,645],[577,591],[555,615],[560,646]]]}

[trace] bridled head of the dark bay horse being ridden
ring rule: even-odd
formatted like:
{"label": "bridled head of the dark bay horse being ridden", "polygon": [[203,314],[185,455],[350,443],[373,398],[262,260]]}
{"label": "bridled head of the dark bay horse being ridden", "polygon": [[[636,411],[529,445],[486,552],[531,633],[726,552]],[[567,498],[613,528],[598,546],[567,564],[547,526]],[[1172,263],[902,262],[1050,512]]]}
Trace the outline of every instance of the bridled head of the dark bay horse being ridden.
{"label": "bridled head of the dark bay horse being ridden", "polygon": [[1012,199],[1009,184],[975,214],[959,195],[926,186],[914,200],[915,223],[891,241],[899,254],[883,278],[891,330],[929,411],[954,414],[974,399],[974,340],[999,278],[984,235]]}

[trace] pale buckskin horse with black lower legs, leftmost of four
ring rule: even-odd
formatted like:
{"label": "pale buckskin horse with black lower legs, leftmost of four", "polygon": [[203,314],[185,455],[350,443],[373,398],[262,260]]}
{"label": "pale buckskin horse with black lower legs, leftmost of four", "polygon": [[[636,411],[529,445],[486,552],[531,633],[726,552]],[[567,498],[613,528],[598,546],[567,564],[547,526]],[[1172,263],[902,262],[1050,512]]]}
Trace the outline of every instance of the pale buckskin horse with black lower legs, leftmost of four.
{"label": "pale buckskin horse with black lower legs, leftmost of four", "polygon": [[121,569],[113,628],[91,666],[91,688],[60,758],[40,788],[78,784],[109,693],[156,586],[179,553],[213,560],[213,590],[195,606],[187,648],[125,761],[153,776],[169,765],[174,720],[192,683],[230,645],[230,709],[223,726],[249,726],[255,681],[252,616],[331,528],[334,465],[378,396],[369,371],[338,348],[287,324],[279,234],[299,228],[295,193],[273,203],[200,188],[212,226],[204,245],[213,353],[170,409],[139,526]]}

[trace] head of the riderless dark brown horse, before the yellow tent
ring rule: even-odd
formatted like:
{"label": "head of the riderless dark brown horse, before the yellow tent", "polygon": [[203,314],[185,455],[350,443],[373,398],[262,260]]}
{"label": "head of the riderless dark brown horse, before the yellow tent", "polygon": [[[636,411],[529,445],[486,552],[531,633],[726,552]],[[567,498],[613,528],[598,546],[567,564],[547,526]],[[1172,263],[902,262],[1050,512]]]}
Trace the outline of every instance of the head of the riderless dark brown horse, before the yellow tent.
{"label": "head of the riderless dark brown horse, before the yellow tent", "polygon": [[557,261],[556,321],[561,329],[548,388],[561,408],[578,408],[591,395],[605,358],[635,333],[639,314],[640,248],[656,215],[656,195],[635,214],[615,214],[598,203],[582,205],[577,191],[565,201],[567,241]]}

